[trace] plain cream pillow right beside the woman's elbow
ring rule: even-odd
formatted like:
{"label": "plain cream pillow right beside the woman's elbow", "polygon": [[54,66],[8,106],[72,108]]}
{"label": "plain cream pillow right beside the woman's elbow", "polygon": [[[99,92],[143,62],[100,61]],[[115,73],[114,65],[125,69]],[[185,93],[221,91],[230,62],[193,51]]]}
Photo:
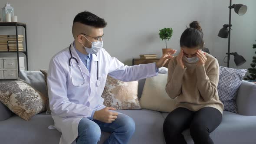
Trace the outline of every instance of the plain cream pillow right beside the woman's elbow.
{"label": "plain cream pillow right beside the woman's elbow", "polygon": [[146,79],[140,98],[141,108],[163,112],[174,110],[176,100],[171,99],[165,92],[166,82],[167,75],[165,74]]}

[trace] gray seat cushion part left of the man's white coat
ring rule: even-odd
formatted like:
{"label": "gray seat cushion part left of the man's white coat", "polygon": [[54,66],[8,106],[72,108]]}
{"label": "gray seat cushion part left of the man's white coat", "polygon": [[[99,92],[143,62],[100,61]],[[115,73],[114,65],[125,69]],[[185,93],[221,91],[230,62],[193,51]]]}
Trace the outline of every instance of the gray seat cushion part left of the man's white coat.
{"label": "gray seat cushion part left of the man's white coat", "polygon": [[53,125],[51,115],[45,112],[24,121],[17,115],[0,122],[1,144],[59,144],[61,133],[48,129]]}

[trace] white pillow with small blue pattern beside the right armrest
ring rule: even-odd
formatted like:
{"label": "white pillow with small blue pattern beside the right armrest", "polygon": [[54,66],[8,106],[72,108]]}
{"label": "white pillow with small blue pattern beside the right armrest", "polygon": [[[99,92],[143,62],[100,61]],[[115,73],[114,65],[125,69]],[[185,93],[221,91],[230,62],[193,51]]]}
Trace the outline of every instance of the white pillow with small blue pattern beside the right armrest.
{"label": "white pillow with small blue pattern beside the right armrest", "polygon": [[224,111],[238,113],[236,107],[236,94],[247,69],[231,69],[220,66],[218,93],[224,105]]}

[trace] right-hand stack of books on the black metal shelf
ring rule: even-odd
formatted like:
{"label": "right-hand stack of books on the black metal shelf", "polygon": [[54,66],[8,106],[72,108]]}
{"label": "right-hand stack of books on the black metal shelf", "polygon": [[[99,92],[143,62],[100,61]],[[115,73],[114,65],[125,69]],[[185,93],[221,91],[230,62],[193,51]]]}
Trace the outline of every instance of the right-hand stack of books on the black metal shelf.
{"label": "right-hand stack of books on the black metal shelf", "polygon": [[[23,39],[24,39],[23,35],[18,35],[18,49],[19,49],[19,51],[24,51]],[[9,52],[17,51],[16,35],[9,35],[9,37],[8,37],[8,48],[9,48]]]}

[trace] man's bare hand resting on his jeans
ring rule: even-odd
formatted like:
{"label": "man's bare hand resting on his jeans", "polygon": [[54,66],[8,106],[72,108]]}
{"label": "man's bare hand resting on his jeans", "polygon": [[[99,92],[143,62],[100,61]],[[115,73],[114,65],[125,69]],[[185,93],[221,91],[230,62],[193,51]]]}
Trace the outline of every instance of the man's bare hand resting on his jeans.
{"label": "man's bare hand resting on his jeans", "polygon": [[95,111],[93,115],[93,119],[102,121],[105,123],[112,123],[117,118],[118,113],[112,112],[109,110],[116,110],[116,109],[111,107],[106,107],[106,108],[103,108],[102,110]]}

